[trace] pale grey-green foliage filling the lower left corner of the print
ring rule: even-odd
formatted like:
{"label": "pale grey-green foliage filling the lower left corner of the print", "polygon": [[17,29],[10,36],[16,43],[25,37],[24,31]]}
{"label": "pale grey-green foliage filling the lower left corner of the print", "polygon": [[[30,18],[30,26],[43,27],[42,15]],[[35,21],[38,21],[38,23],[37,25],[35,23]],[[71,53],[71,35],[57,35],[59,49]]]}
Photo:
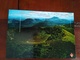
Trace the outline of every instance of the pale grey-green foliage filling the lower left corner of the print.
{"label": "pale grey-green foliage filling the lower left corner of the print", "polygon": [[[16,29],[12,29],[12,28],[8,29],[6,57],[7,58],[32,57],[33,46],[29,44],[20,44],[19,41],[14,39],[15,32],[16,32]],[[31,55],[27,55],[29,54],[29,52]]]}

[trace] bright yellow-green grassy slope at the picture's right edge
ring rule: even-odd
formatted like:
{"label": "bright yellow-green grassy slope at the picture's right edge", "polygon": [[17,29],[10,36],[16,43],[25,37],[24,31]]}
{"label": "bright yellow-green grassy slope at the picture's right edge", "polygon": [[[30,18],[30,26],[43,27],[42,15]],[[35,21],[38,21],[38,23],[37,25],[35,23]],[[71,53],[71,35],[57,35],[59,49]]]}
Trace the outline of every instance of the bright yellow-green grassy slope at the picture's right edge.
{"label": "bright yellow-green grassy slope at the picture's right edge", "polygon": [[70,41],[75,44],[75,36],[72,33],[66,31],[65,29],[63,29],[63,32],[65,33],[65,36],[62,40],[67,42]]}

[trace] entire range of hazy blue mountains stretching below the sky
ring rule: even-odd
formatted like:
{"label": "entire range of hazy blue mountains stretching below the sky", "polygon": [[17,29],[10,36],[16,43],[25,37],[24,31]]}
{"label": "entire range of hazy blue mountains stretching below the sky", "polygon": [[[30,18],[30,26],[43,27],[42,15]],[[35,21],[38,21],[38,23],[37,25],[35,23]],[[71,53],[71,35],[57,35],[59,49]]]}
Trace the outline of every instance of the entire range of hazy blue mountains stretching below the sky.
{"label": "entire range of hazy blue mountains stretching below the sky", "polygon": [[[9,20],[9,23],[14,25],[18,25],[20,20]],[[32,27],[32,26],[54,26],[54,25],[63,25],[73,23],[73,20],[60,19],[58,17],[52,17],[48,19],[37,19],[37,18],[28,18],[25,20],[21,20],[21,27]]]}

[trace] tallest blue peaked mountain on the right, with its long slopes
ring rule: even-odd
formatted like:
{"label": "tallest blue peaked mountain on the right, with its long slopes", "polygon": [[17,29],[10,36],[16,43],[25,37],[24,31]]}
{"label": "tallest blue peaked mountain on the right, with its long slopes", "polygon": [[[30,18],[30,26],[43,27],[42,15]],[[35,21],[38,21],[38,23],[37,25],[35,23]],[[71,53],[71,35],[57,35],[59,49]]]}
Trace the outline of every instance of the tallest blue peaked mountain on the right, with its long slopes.
{"label": "tallest blue peaked mountain on the right, with its long slopes", "polygon": [[45,19],[45,21],[40,22],[36,24],[35,26],[54,26],[54,25],[64,25],[64,24],[71,24],[73,23],[72,20],[67,20],[67,19],[60,19],[58,17],[52,17],[50,19]]}

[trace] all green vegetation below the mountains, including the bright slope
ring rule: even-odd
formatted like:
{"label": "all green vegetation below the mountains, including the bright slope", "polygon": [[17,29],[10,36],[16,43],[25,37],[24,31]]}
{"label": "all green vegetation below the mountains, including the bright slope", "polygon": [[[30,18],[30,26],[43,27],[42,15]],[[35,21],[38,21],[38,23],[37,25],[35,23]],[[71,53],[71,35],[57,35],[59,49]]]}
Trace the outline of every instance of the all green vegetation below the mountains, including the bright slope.
{"label": "all green vegetation below the mountains, including the bright slope", "polygon": [[[17,29],[9,29],[7,37],[7,58],[69,58],[75,57],[73,27],[68,25],[38,27],[33,35],[35,44],[14,39]],[[39,43],[41,42],[41,43]]]}

